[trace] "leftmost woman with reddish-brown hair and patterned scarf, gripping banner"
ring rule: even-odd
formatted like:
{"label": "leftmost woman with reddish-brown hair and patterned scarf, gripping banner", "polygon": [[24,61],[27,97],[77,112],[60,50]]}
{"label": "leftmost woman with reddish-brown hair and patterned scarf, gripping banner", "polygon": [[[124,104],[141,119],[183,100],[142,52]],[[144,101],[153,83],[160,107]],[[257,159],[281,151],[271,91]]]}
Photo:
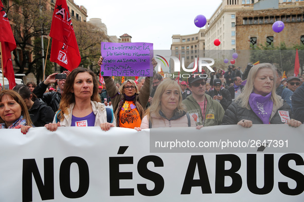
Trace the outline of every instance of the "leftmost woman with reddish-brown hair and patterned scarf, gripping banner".
{"label": "leftmost woman with reddish-brown hair and patterned scarf, gripping banner", "polygon": [[24,133],[32,122],[22,97],[12,90],[0,91],[0,128],[21,128]]}

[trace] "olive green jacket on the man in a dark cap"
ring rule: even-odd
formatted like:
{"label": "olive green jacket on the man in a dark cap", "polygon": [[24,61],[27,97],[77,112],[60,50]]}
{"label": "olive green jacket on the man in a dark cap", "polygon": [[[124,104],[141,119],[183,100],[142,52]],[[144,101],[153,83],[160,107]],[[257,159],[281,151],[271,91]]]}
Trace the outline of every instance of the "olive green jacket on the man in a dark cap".
{"label": "olive green jacket on the man in a dark cap", "polygon": [[[206,113],[204,117],[204,126],[217,126],[221,125],[224,116],[224,109],[217,100],[213,100],[209,95],[205,94],[207,99]],[[183,104],[187,107],[187,112],[194,118],[196,126],[203,125],[203,113],[200,105],[189,95],[183,100]]]}

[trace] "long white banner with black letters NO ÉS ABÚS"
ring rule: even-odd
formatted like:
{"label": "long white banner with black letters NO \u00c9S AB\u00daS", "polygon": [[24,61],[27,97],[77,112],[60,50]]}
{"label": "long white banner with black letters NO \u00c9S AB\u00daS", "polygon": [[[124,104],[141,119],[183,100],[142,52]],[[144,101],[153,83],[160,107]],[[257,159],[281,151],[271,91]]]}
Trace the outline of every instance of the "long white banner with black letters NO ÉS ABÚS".
{"label": "long white banner with black letters NO \u00c9S AB\u00daS", "polygon": [[[191,142],[207,147],[213,137],[214,142],[221,139],[221,146],[212,153],[158,153],[163,151],[157,150],[154,132],[171,136],[175,144],[168,143],[171,149],[178,142],[180,149],[186,148],[187,139],[189,147]],[[174,137],[181,132],[184,137]],[[60,127],[49,132],[40,127],[26,135],[19,129],[2,129],[0,201],[303,201],[304,152],[298,152],[303,151],[303,134],[303,126],[287,125],[139,132],[124,128],[104,132],[99,127]],[[242,145],[244,135],[261,144]],[[231,147],[240,143],[244,150],[224,153],[222,143],[229,141]]]}

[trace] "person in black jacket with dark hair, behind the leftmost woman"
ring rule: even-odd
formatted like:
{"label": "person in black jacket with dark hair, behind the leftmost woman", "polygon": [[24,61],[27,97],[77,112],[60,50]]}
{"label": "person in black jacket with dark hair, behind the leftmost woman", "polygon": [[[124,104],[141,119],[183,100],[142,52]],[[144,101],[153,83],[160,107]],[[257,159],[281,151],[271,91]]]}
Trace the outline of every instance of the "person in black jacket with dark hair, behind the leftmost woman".
{"label": "person in black jacket with dark hair, behind the leftmost woman", "polygon": [[53,121],[55,112],[51,107],[40,101],[26,85],[17,85],[13,90],[23,98],[35,127],[41,127]]}

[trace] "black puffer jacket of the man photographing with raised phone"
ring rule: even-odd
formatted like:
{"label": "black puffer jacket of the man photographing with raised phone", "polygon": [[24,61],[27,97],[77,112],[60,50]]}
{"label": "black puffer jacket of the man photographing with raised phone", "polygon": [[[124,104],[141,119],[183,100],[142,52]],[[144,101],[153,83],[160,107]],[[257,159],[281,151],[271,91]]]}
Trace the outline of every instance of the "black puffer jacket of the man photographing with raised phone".
{"label": "black puffer jacket of the man photographing with raised phone", "polygon": [[33,93],[37,97],[41,98],[47,106],[51,107],[53,112],[57,112],[61,101],[61,93],[55,91],[44,93],[46,89],[47,85],[42,82],[36,86],[36,88],[33,90]]}

